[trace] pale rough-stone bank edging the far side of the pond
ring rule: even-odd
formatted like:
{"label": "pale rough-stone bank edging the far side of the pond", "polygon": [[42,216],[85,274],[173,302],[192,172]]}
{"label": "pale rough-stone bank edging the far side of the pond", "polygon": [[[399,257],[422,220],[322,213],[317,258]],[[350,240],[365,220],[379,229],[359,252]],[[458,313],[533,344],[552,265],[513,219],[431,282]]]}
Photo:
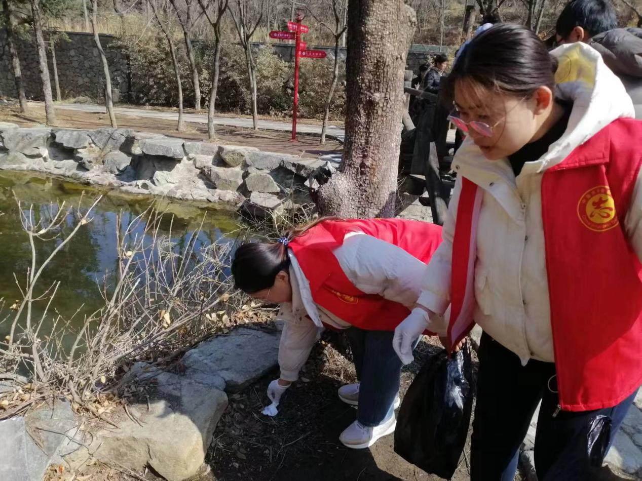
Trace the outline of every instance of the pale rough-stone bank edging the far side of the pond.
{"label": "pale rough-stone bank edging the far side of the pond", "polygon": [[311,203],[338,160],[301,158],[129,129],[20,128],[0,122],[0,169],[38,171],[135,194],[222,202],[256,217]]}

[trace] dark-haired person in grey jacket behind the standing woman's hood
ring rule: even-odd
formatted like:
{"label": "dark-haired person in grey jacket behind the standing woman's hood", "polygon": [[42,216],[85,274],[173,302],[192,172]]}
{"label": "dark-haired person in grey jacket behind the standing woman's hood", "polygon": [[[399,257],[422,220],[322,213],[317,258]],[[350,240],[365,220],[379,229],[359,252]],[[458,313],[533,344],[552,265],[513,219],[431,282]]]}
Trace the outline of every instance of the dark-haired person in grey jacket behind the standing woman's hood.
{"label": "dark-haired person in grey jacket behind the standing woman's hood", "polygon": [[555,28],[557,44],[584,42],[602,55],[604,63],[624,84],[642,119],[642,28],[618,28],[607,0],[572,0]]}

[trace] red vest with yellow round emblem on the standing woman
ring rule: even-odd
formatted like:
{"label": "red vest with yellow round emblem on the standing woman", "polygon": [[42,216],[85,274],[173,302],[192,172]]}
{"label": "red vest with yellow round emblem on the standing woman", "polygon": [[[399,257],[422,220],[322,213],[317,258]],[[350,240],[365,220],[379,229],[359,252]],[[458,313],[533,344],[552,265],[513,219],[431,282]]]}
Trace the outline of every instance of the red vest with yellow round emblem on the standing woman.
{"label": "red vest with yellow round emblem on the standing woman", "polygon": [[[623,228],[642,164],[640,140],[642,122],[614,121],[542,178],[551,326],[564,410],[612,407],[642,384],[642,266]],[[473,289],[468,270],[474,264],[471,232],[480,192],[464,179],[453,242],[451,345],[473,325],[466,315]]]}

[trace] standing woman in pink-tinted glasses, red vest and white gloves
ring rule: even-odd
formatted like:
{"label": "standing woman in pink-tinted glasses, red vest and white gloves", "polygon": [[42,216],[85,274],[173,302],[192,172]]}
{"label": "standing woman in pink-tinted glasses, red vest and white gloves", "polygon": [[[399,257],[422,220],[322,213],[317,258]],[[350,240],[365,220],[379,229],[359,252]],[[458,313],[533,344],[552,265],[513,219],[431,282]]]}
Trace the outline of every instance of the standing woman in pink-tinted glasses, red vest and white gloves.
{"label": "standing woman in pink-tinted glasses, red vest and white gloves", "polygon": [[474,319],[473,481],[513,479],[540,401],[537,476],[592,479],[642,384],[642,122],[597,51],[520,26],[471,40],[449,86],[468,137],[395,349],[426,328],[454,346]]}

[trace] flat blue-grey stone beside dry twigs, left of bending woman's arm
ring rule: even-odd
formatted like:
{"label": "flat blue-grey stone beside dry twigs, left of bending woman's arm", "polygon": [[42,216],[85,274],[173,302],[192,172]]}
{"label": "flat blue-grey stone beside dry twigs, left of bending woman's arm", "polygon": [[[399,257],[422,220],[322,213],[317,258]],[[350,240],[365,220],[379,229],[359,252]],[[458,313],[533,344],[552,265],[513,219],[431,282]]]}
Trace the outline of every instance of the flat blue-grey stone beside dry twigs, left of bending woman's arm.
{"label": "flat blue-grey stone beside dry twigs, left of bending woman's arm", "polygon": [[238,328],[202,342],[183,357],[186,374],[216,373],[225,391],[238,392],[277,366],[279,332]]}

